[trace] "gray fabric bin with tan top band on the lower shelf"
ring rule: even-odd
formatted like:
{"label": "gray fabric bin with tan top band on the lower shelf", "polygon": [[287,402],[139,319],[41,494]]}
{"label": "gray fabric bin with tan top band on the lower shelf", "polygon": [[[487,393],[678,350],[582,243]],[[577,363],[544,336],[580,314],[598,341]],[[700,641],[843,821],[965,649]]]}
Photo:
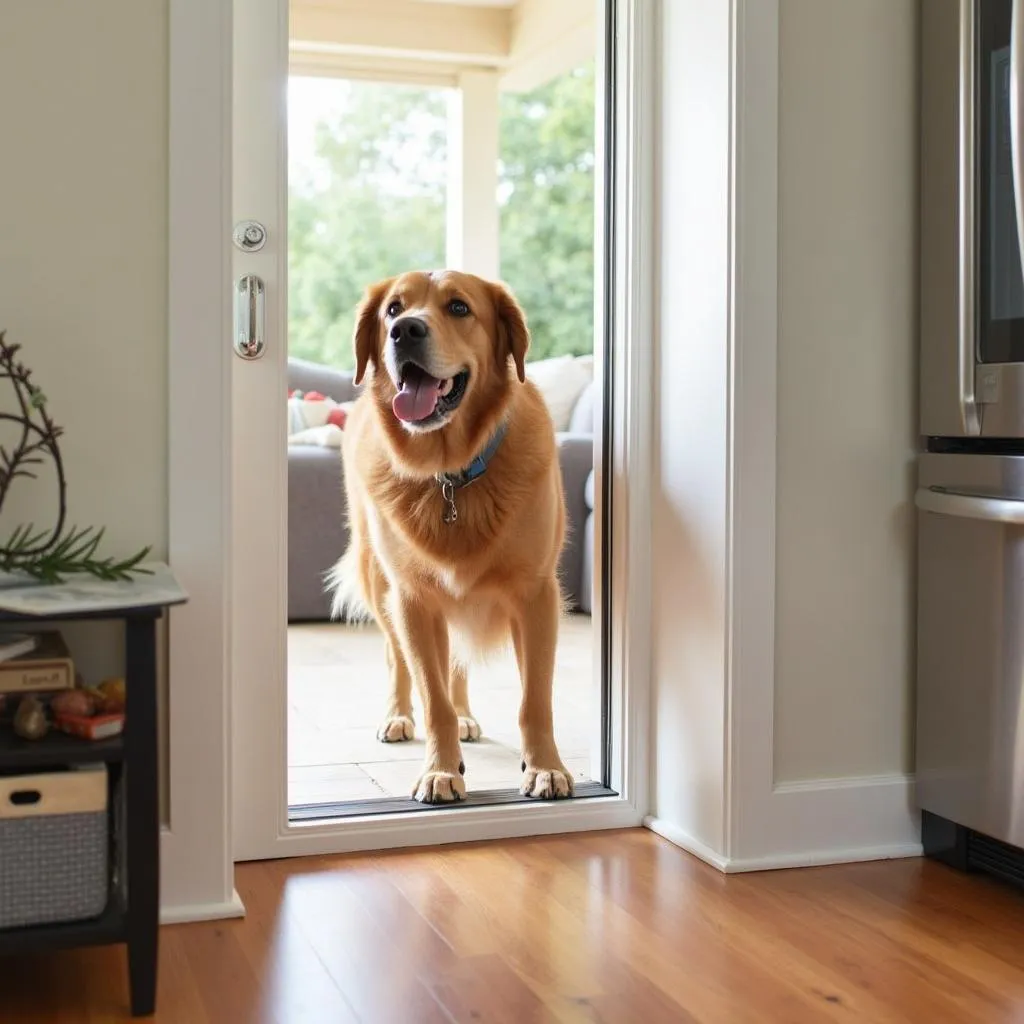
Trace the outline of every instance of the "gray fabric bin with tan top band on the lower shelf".
{"label": "gray fabric bin with tan top band on the lower shelf", "polygon": [[103,912],[106,793],[104,766],[0,776],[0,929]]}

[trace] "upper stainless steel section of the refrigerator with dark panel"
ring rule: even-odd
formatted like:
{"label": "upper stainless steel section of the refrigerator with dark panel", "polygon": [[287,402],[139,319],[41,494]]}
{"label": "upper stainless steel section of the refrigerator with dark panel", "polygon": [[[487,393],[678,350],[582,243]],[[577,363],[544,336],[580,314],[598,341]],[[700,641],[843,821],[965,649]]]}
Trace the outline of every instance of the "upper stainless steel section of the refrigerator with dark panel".
{"label": "upper stainless steel section of the refrigerator with dark panel", "polygon": [[921,433],[1024,440],[1024,0],[921,6]]}

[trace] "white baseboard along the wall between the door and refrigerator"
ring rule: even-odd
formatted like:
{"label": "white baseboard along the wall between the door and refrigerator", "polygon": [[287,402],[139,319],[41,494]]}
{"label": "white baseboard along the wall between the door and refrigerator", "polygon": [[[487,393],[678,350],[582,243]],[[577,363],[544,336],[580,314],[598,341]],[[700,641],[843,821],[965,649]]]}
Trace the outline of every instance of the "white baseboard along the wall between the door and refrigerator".
{"label": "white baseboard along the wall between the door and refrigerator", "polygon": [[727,873],[920,857],[921,817],[909,775],[813,779],[776,785],[749,805],[735,856],[664,818],[644,824]]}

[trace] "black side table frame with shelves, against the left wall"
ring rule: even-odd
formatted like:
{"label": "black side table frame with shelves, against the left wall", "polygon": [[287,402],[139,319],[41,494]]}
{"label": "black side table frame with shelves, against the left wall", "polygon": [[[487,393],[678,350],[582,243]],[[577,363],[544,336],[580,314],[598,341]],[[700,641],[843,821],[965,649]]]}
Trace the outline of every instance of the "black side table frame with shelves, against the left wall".
{"label": "black side table frame with shelves, against the left wall", "polygon": [[[0,625],[121,621],[125,624],[124,732],[90,740],[51,731],[26,740],[0,733],[0,770],[105,762],[111,793],[121,804],[121,828],[111,846],[111,869],[119,865],[106,909],[92,921],[0,930],[0,954],[73,946],[128,946],[128,977],[134,1017],[153,1014],[157,1000],[157,934],[160,912],[160,779],[157,732],[157,622],[167,605],[102,611],[24,615],[0,611]],[[120,779],[121,784],[117,785]]]}

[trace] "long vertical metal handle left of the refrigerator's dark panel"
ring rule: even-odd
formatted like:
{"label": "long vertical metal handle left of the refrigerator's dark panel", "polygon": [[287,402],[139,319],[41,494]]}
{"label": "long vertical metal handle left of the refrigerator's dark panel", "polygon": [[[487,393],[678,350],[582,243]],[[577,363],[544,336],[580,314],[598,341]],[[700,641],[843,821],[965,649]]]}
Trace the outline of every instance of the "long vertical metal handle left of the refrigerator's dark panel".
{"label": "long vertical metal handle left of the refrigerator's dark panel", "polygon": [[[1014,27],[1019,29],[1017,17],[1020,0],[1014,3]],[[975,229],[974,229],[974,177],[975,177],[975,50],[976,50],[977,0],[959,0],[959,324],[957,331],[957,383],[959,385],[961,422],[969,437],[981,434],[981,419],[975,395]],[[1013,51],[1016,53],[1016,50]],[[1016,66],[1014,66],[1016,67]],[[1011,72],[1012,74],[1012,72]],[[1013,115],[1011,114],[1011,117]],[[1014,139],[1017,132],[1012,131]],[[1016,148],[1014,153],[1014,187],[1016,185]],[[1021,204],[1017,203],[1018,220]]]}

